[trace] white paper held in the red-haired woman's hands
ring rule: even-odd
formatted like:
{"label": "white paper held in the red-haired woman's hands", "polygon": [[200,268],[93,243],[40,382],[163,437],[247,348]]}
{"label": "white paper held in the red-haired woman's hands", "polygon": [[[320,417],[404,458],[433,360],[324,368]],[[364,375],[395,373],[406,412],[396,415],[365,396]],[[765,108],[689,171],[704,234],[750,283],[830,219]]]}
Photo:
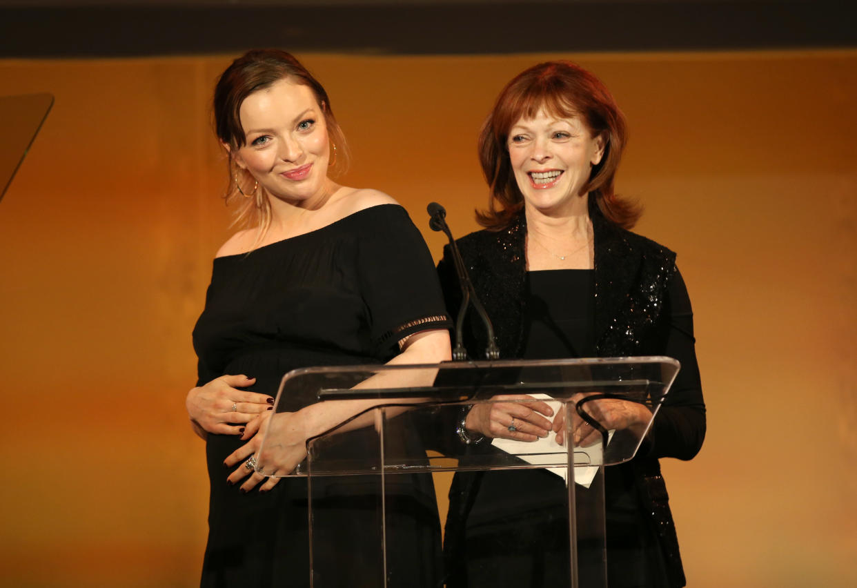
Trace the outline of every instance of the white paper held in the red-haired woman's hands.
{"label": "white paper held in the red-haired woman's hands", "polygon": [[[530,394],[534,399],[544,400],[554,410],[554,415],[559,413],[562,403],[555,400],[548,394]],[[542,415],[544,417],[544,415]],[[554,417],[545,417],[548,421],[554,421]],[[608,443],[613,438],[613,431],[608,431]],[[547,437],[538,439],[537,441],[515,441],[513,439],[495,438],[491,445],[497,447],[501,451],[511,453],[518,459],[523,459],[528,464],[555,464],[556,453],[566,453],[566,447],[561,446],[556,442],[556,433],[550,431]],[[596,441],[588,447],[577,447],[574,450],[575,463],[590,463],[601,464],[603,458],[603,450],[601,441]],[[592,480],[595,479],[598,473],[598,465],[582,465],[574,468],[574,482],[580,484],[584,488],[589,488]],[[546,467],[544,468],[557,476],[566,480],[567,467]]]}

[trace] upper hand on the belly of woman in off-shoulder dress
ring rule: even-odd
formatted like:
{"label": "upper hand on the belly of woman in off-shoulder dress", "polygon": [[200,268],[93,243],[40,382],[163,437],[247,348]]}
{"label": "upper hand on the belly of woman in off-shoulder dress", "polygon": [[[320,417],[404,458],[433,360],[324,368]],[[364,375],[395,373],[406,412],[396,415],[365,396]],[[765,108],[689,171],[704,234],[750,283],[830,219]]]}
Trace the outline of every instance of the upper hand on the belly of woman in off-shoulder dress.
{"label": "upper hand on the belly of woman in off-shoulder dress", "polygon": [[185,405],[196,434],[203,439],[207,433],[242,435],[243,424],[272,410],[273,398],[267,394],[238,389],[254,383],[255,378],[246,375],[221,375],[204,386],[191,388]]}

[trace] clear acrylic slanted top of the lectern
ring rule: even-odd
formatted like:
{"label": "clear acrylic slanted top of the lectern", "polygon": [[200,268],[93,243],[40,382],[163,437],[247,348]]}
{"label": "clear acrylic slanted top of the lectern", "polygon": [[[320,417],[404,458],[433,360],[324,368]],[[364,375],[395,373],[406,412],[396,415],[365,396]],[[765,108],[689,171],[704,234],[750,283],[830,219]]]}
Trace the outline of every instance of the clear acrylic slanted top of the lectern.
{"label": "clear acrylic slanted top of the lectern", "polygon": [[[587,471],[632,459],[678,370],[669,357],[296,369],[280,385],[257,471],[282,477],[548,468],[565,477],[572,467],[579,483]],[[460,434],[473,405],[534,398],[564,419],[557,425],[563,445],[554,433],[531,442]],[[609,403],[642,405],[651,417],[633,429],[609,429],[602,423]],[[307,423],[318,430],[303,456],[295,452],[296,432]]]}

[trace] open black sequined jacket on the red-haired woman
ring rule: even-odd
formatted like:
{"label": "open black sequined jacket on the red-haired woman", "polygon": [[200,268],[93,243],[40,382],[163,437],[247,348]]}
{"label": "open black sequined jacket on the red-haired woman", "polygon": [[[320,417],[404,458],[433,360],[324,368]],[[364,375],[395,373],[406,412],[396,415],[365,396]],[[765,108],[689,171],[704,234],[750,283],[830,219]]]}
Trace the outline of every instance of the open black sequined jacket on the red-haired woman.
{"label": "open black sequined jacket on the red-haired woman", "polygon": [[[595,207],[590,209],[590,218],[595,239],[597,356],[662,355],[669,330],[669,317],[663,307],[675,272],[675,254],[658,243],[609,223]],[[521,213],[502,231],[477,231],[456,242],[476,292],[493,321],[500,357],[506,359],[520,357],[524,345],[525,235],[526,221]],[[461,291],[448,245],[438,273],[446,308],[454,317],[461,303]],[[484,358],[487,334],[472,310],[464,325],[464,345],[470,357]],[[698,417],[694,418],[697,420],[691,426],[698,429]],[[658,419],[656,425],[657,422]],[[698,452],[704,436],[704,406],[701,422],[701,435],[698,431],[695,436],[688,435],[696,447],[659,451],[660,457],[690,459]],[[657,437],[657,426],[653,427],[652,434]],[[644,453],[644,448],[640,453]],[[634,469],[638,497],[644,512],[651,514],[650,523],[662,546],[670,586],[683,586],[685,576],[679,544],[659,462],[656,457],[638,454],[629,464],[615,467],[626,466]],[[458,525],[466,516],[471,484],[467,475],[456,478],[450,490],[450,514],[446,523],[446,537],[450,539],[446,549],[452,551],[455,550],[454,537],[460,530]]]}

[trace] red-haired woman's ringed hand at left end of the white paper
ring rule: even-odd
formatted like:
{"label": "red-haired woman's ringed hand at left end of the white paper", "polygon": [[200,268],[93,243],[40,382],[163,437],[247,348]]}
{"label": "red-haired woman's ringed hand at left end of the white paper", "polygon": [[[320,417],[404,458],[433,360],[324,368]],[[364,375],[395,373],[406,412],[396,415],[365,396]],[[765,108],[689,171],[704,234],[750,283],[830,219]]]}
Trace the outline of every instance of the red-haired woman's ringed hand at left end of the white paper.
{"label": "red-haired woman's ringed hand at left end of the white paper", "polygon": [[542,415],[554,416],[554,410],[542,400],[525,394],[494,396],[494,402],[473,405],[464,427],[492,439],[537,441],[547,437],[551,429],[550,421]]}

